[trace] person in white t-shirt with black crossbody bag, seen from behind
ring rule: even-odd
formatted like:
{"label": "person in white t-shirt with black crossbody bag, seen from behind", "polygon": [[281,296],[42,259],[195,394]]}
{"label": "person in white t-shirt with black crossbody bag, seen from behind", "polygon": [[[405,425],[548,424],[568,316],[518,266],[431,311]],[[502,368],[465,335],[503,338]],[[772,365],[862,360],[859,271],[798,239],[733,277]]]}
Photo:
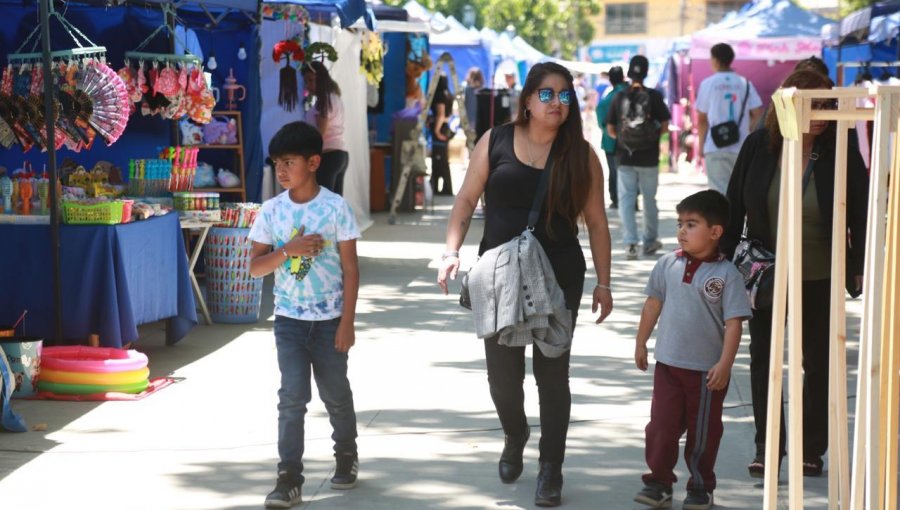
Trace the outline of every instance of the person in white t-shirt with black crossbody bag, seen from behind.
{"label": "person in white t-shirt with black crossbody bag, seen from behind", "polygon": [[[734,49],[719,43],[709,50],[714,74],[700,83],[697,92],[697,134],[700,155],[706,161],[709,188],[725,193],[738,151],[762,115],[762,101],[750,80],[731,70]],[[726,124],[727,123],[727,124]],[[712,130],[736,130],[720,140]]]}

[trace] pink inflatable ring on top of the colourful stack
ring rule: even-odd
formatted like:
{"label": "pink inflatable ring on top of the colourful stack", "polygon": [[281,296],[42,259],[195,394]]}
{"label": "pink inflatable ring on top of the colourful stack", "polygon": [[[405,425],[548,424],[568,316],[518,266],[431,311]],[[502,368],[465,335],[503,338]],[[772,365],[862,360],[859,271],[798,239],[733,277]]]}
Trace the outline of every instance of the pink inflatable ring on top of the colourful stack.
{"label": "pink inflatable ring on top of the colourful stack", "polygon": [[109,374],[140,370],[147,366],[147,355],[133,349],[111,347],[44,347],[41,366],[62,372]]}

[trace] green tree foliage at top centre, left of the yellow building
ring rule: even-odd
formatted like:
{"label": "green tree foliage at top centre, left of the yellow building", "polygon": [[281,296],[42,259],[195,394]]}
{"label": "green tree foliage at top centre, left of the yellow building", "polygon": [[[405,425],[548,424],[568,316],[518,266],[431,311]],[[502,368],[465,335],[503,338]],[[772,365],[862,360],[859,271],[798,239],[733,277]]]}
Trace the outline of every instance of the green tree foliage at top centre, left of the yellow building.
{"label": "green tree foliage at top centre, left of the yellow building", "polygon": [[[463,19],[466,4],[475,9],[475,26],[502,32],[508,25],[525,41],[548,54],[571,58],[594,37],[592,19],[600,0],[419,0],[427,9]],[[386,0],[402,6],[406,0]]]}

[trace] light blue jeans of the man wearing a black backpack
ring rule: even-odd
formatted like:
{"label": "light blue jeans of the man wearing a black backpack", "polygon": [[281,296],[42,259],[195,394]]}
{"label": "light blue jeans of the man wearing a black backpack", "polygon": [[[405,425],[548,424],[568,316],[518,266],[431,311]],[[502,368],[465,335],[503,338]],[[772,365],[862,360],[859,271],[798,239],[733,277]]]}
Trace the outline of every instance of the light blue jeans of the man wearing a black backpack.
{"label": "light blue jeans of the man wearing a black backpack", "polygon": [[634,214],[638,190],[644,196],[644,246],[656,241],[659,230],[659,209],[656,207],[656,187],[659,168],[655,166],[619,165],[619,218],[625,245],[638,244],[637,219]]}

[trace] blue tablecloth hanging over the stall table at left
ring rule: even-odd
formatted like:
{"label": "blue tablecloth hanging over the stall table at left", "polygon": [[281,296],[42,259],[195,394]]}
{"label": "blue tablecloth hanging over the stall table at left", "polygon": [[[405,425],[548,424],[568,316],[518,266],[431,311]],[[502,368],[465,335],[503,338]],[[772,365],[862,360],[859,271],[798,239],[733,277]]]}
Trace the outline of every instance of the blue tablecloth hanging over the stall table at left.
{"label": "blue tablecloth hanging over the stall table at left", "polygon": [[[53,338],[49,225],[0,225],[0,325],[27,309],[26,333]],[[64,341],[121,347],[137,326],[168,319],[166,343],[197,324],[178,215],[124,225],[60,226]],[[21,329],[17,333],[21,334]]]}

